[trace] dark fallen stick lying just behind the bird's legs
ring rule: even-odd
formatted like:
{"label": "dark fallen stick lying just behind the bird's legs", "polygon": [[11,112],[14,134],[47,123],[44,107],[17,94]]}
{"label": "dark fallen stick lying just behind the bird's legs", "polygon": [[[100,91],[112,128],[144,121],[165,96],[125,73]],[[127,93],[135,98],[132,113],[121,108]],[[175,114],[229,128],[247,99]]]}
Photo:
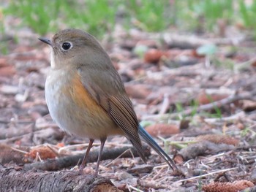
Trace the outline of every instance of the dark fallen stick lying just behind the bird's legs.
{"label": "dark fallen stick lying just behind the bird's legs", "polygon": [[[127,150],[131,150],[131,153],[127,152]],[[147,156],[151,155],[150,149],[148,146],[143,146],[143,151]],[[99,151],[91,151],[89,153],[88,163],[96,162],[98,158]],[[55,159],[48,159],[46,161],[37,162],[33,164],[25,164],[23,166],[23,169],[29,170],[29,169],[40,169],[40,170],[48,170],[48,171],[57,171],[61,170],[70,166],[75,166],[78,164],[78,161],[83,160],[84,154],[79,155],[70,155],[62,158],[55,158]],[[121,147],[116,149],[108,149],[105,148],[102,153],[102,159],[101,160],[107,160],[107,159],[115,159],[118,158],[118,156],[121,155],[121,158],[132,158],[138,157],[138,153],[135,150],[135,148],[131,147]]]}

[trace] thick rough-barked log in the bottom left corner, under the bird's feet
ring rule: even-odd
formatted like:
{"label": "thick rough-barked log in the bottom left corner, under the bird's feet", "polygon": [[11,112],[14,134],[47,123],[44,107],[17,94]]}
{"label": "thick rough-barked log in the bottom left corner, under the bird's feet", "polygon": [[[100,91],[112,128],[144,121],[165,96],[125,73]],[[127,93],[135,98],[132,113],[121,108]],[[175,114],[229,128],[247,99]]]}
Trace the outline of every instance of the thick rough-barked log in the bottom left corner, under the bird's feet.
{"label": "thick rough-barked log in the bottom left corner, under the bird's feet", "polygon": [[0,165],[1,191],[120,191],[110,180],[74,171],[34,172]]}

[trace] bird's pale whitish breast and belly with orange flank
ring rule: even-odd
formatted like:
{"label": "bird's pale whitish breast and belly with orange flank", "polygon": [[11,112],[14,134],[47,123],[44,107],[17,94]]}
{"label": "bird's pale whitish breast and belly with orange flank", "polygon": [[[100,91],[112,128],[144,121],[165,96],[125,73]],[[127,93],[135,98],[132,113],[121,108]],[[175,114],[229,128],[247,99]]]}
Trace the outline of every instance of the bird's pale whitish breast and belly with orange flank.
{"label": "bird's pale whitish breast and belly with orange flank", "polygon": [[53,120],[70,134],[91,139],[121,134],[108,112],[84,88],[78,72],[51,71],[45,82],[45,98]]}

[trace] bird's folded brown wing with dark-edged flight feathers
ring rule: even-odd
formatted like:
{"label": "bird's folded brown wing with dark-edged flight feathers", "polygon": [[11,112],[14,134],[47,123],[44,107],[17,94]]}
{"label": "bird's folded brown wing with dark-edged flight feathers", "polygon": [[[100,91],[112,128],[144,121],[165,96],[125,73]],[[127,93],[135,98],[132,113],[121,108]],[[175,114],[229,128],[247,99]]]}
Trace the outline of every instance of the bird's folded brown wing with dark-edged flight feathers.
{"label": "bird's folded brown wing with dark-edged flight feathers", "polygon": [[78,74],[86,91],[124,131],[125,137],[132,142],[140,158],[146,163],[138,134],[138,119],[116,70],[102,72],[98,70],[92,74],[85,74],[83,70],[87,70],[86,67],[80,66]]}

